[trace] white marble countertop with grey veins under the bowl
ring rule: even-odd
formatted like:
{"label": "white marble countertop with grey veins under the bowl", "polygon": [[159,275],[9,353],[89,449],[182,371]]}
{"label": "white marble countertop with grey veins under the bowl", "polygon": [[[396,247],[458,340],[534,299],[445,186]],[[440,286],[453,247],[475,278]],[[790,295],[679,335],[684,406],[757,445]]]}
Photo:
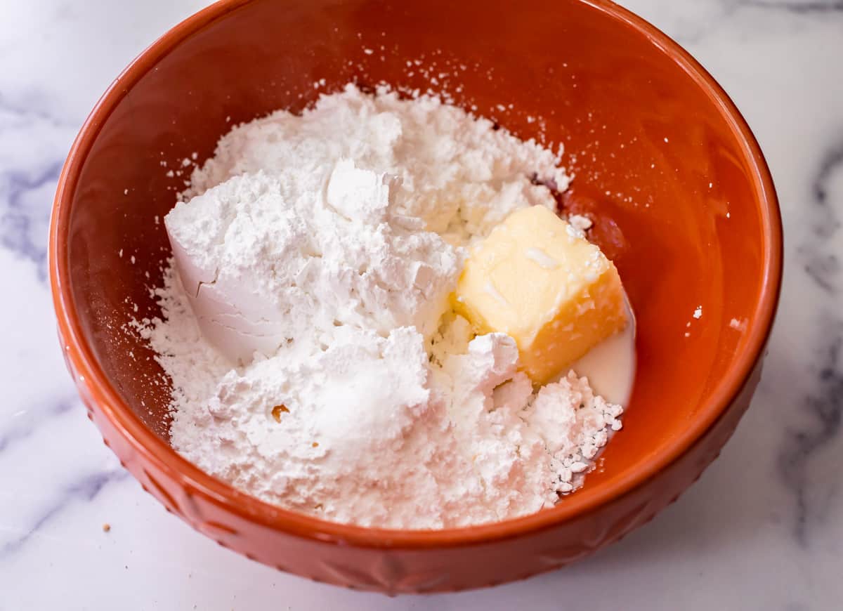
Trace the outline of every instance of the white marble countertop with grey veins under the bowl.
{"label": "white marble countertop with grey veins under the bowl", "polygon": [[273,571],[164,512],[102,444],[58,350],[46,231],[72,137],[126,63],[204,4],[0,0],[0,610],[841,608],[843,3],[624,3],[733,96],[781,197],[771,354],[721,458],[652,523],[564,571],[395,599]]}

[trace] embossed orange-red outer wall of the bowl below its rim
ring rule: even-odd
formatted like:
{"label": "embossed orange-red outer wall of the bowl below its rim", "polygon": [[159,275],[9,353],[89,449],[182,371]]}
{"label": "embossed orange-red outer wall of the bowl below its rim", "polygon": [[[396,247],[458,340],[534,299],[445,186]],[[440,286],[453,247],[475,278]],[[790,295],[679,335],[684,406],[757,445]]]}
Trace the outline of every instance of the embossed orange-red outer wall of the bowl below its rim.
{"label": "embossed orange-red outer wall of the bowl below its rim", "polygon": [[72,353],[66,354],[67,367],[105,445],[168,512],[217,544],[279,571],[314,582],[390,595],[458,592],[513,582],[569,565],[620,540],[676,501],[717,458],[749,407],[761,372],[759,360],[728,410],[692,448],[646,485],[601,506],[599,511],[517,538],[400,549],[389,545],[346,546],[298,537],[228,511],[207,490],[196,488],[175,469],[151,462],[133,447],[115,422],[104,415],[102,406],[107,399],[84,381]]}

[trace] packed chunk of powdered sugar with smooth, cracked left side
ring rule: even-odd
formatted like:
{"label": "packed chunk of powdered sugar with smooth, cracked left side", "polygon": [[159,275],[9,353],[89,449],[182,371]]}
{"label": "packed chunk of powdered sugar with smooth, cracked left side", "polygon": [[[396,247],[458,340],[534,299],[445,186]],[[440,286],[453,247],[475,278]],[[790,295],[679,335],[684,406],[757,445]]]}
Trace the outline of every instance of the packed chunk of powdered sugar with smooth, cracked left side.
{"label": "packed chunk of powdered sugar with smooth, cracked left side", "polygon": [[[165,218],[204,335],[235,363],[351,324],[438,326],[463,250],[395,214],[389,179],[347,159],[234,176]],[[412,227],[416,230],[411,229]]]}

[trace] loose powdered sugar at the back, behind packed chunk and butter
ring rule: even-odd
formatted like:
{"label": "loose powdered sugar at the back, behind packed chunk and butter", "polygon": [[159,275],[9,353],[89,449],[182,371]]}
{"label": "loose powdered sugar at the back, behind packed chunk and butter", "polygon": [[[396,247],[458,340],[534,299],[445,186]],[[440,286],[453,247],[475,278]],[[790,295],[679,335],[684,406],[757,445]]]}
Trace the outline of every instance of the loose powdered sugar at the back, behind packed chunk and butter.
{"label": "loose powdered sugar at the back, behind packed chunk and butter", "polygon": [[326,161],[340,158],[394,176],[397,212],[454,244],[485,235],[518,207],[554,207],[550,191],[531,177],[560,191],[568,185],[558,155],[495,130],[487,119],[435,97],[405,100],[384,88],[372,96],[349,84],[303,116],[279,110],[235,127],[193,172],[183,197],[239,174],[282,173],[291,160],[298,172],[322,175]]}

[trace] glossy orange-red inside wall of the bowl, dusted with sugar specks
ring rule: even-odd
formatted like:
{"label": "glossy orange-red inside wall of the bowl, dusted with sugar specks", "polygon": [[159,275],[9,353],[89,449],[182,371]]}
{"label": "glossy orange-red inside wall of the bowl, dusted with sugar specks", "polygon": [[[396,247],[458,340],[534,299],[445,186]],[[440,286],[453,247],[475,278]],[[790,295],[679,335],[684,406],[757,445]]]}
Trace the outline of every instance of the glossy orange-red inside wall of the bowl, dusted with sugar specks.
{"label": "glossy orange-red inside wall of the bowl, dusted with sugar specks", "polygon": [[519,137],[564,145],[575,180],[563,205],[596,218],[593,237],[636,312],[639,359],[624,429],[572,499],[717,415],[712,398],[748,350],[770,257],[758,160],[699,75],[604,3],[503,12],[481,0],[232,3],[118,81],[62,208],[58,255],[99,367],[158,436],[168,436],[169,386],[126,324],[159,313],[150,289],[169,256],[162,217],[231,126],[348,82],[430,87]]}

